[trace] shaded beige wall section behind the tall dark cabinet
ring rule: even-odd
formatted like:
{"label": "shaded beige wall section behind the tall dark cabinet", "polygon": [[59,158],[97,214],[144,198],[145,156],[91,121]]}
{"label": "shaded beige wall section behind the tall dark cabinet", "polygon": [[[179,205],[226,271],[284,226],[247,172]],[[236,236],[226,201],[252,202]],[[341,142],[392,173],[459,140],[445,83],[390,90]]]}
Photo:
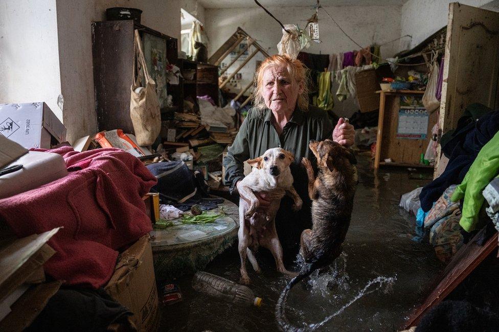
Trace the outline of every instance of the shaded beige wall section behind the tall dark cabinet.
{"label": "shaded beige wall section behind the tall dark cabinet", "polygon": [[180,6],[177,1],[58,0],[63,123],[70,142],[97,131],[90,23],[105,20],[106,8],[119,6],[141,9],[143,25],[180,37]]}

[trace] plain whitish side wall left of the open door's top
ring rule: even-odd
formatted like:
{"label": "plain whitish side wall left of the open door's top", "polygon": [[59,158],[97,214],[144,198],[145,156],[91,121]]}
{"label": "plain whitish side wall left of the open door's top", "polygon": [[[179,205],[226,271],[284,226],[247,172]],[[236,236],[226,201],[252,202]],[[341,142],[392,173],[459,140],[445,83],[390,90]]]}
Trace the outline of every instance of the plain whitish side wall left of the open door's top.
{"label": "plain whitish side wall left of the open door's top", "polygon": [[[448,0],[409,0],[402,6],[401,36],[412,35],[410,43],[401,41],[400,49],[411,49],[447,25]],[[482,7],[490,0],[460,0],[460,4]],[[492,2],[493,3],[493,2]]]}

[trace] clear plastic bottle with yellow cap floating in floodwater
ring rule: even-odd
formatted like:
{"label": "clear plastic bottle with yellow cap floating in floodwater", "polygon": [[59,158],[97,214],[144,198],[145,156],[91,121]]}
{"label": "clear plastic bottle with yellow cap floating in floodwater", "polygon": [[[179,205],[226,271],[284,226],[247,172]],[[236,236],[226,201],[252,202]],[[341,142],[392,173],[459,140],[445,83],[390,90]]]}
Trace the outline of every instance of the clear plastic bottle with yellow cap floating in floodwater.
{"label": "clear plastic bottle with yellow cap floating in floodwater", "polygon": [[208,272],[196,272],[192,288],[240,306],[262,305],[262,299],[256,297],[250,288]]}

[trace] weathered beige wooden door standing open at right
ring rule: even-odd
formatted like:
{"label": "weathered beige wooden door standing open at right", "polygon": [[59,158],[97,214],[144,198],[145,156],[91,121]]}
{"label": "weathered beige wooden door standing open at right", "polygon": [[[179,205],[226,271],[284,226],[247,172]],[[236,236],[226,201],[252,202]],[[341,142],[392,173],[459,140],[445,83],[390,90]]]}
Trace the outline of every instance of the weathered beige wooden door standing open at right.
{"label": "weathered beige wooden door standing open at right", "polygon": [[[442,133],[456,128],[471,103],[499,107],[499,13],[449,4],[443,70],[439,118]],[[437,162],[439,159],[440,145]]]}

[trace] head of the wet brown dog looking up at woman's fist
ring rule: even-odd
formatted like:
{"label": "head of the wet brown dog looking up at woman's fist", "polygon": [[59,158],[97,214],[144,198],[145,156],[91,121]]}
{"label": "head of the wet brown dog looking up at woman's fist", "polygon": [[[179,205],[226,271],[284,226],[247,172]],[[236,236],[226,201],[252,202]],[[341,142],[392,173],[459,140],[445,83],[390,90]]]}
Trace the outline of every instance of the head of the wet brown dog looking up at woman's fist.
{"label": "head of the wet brown dog looking up at woman's fist", "polygon": [[345,166],[345,161],[352,165],[357,163],[353,153],[347,148],[339,145],[331,139],[322,141],[311,140],[308,145],[312,153],[317,158],[317,165],[323,165],[329,171]]}

